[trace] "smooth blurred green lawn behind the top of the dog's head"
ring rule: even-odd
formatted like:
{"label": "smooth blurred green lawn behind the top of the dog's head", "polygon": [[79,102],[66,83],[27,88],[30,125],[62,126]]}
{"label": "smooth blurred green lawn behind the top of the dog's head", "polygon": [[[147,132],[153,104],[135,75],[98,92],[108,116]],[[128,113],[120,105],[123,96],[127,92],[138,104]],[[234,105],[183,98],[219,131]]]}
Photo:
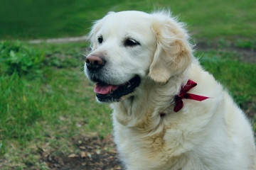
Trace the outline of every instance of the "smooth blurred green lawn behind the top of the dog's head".
{"label": "smooth blurred green lawn behind the top of the dog's head", "polygon": [[[256,1],[0,0],[0,40],[78,36],[108,11],[170,8],[196,38],[255,40]],[[235,37],[234,37],[235,36]]]}

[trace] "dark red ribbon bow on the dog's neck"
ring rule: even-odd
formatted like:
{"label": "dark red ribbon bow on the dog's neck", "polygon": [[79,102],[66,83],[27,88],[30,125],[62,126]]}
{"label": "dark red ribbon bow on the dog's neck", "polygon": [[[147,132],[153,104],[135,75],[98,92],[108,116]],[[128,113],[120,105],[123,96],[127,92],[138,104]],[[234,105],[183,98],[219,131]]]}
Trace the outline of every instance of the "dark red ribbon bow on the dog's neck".
{"label": "dark red ribbon bow on the dog's neck", "polygon": [[197,85],[196,82],[192,81],[191,79],[188,79],[187,84],[185,86],[181,87],[180,94],[178,94],[175,98],[175,103],[176,103],[176,106],[174,107],[175,112],[178,112],[179,110],[181,110],[181,108],[183,108],[182,98],[189,98],[189,99],[192,99],[195,101],[204,101],[208,98],[206,96],[199,96],[196,94],[188,94],[187,93],[190,89],[192,89],[196,85]]}

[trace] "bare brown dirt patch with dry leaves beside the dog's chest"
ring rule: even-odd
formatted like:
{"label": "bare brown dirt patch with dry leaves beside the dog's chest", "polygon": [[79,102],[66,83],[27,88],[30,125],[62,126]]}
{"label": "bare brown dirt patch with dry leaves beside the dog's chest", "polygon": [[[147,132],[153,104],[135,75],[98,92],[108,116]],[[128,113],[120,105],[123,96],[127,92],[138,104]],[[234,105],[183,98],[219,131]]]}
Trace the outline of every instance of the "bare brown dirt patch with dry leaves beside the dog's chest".
{"label": "bare brown dirt patch with dry leaves beside the dog's chest", "polygon": [[68,155],[55,155],[52,152],[45,152],[40,149],[41,162],[45,162],[50,169],[56,170],[124,169],[114,149],[111,135],[107,135],[104,139],[88,136],[80,137],[79,139],[73,139],[73,144],[77,147],[78,152]]}

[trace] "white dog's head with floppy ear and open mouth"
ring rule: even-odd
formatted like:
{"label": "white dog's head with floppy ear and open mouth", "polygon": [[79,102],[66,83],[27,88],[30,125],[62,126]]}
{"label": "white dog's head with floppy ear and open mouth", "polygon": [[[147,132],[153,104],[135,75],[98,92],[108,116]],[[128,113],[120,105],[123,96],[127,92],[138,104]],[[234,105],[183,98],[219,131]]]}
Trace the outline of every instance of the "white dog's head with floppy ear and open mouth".
{"label": "white dog's head with floppy ear and open mouth", "polygon": [[119,101],[146,77],[165,83],[191,64],[186,30],[169,13],[111,12],[95,23],[89,38],[85,75],[97,83],[102,102]]}

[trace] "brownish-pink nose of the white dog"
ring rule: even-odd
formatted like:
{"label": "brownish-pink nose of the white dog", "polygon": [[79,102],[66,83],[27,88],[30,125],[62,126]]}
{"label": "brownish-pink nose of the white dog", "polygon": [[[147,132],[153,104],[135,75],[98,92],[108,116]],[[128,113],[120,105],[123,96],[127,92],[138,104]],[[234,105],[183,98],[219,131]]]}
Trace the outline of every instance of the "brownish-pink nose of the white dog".
{"label": "brownish-pink nose of the white dog", "polygon": [[100,69],[105,65],[105,60],[98,55],[89,55],[86,57],[87,69]]}

